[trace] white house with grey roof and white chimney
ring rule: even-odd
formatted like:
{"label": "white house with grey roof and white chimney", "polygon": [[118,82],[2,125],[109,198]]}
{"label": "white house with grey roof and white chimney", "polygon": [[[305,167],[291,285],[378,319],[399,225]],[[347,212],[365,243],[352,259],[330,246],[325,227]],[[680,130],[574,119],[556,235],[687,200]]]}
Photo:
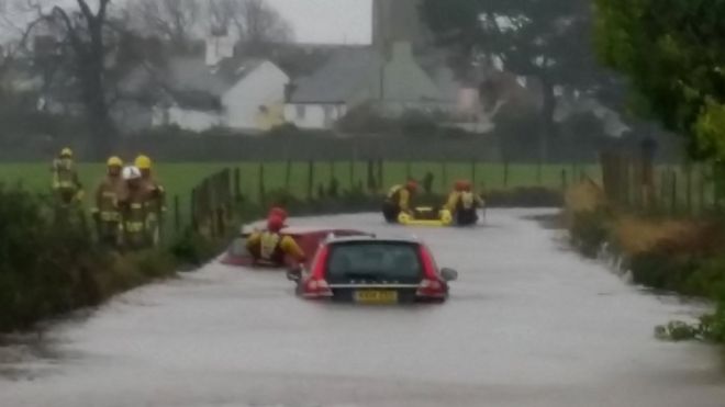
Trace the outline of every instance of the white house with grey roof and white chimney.
{"label": "white house with grey roof and white chimney", "polygon": [[202,58],[176,58],[166,75],[166,102],[154,108],[155,126],[267,131],[283,123],[289,77],[268,60],[231,57],[210,66]]}

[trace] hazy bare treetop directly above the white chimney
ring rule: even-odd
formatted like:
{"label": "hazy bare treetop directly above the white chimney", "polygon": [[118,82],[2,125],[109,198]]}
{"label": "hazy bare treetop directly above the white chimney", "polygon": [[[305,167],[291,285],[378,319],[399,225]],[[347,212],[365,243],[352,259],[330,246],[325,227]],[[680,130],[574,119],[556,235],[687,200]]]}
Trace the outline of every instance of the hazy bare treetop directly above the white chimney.
{"label": "hazy bare treetop directly above the white chimney", "polygon": [[217,0],[210,12],[213,25],[233,29],[252,52],[293,36],[290,24],[265,0]]}

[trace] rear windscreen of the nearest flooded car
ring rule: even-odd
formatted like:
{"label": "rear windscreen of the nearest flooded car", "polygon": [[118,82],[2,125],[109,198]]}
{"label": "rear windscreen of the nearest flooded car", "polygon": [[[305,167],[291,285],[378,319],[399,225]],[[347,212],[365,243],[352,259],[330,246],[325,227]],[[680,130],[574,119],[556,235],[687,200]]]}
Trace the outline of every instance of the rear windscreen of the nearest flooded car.
{"label": "rear windscreen of the nearest flooded car", "polygon": [[417,281],[423,275],[419,245],[404,241],[355,241],[331,247],[331,281]]}

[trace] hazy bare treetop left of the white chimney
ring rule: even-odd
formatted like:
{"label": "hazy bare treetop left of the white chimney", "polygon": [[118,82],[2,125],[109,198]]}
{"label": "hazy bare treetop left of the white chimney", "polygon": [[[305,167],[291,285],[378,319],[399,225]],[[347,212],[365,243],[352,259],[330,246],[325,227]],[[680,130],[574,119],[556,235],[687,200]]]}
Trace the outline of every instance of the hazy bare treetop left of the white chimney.
{"label": "hazy bare treetop left of the white chimney", "polygon": [[129,13],[142,32],[168,41],[177,50],[188,50],[204,10],[199,0],[134,0]]}

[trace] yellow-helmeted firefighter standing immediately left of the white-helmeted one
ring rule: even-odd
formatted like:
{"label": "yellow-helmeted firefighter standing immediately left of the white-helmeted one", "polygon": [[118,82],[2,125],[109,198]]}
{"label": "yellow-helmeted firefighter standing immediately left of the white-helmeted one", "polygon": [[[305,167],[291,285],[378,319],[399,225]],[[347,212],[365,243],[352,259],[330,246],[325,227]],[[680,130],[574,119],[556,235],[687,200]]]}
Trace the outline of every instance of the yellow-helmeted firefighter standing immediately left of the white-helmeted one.
{"label": "yellow-helmeted firefighter standing immediately left of the white-helmeted one", "polygon": [[99,241],[108,246],[118,246],[121,235],[119,194],[124,188],[124,180],[121,177],[123,161],[119,157],[111,157],[107,167],[108,173],[96,189],[96,206],[91,212]]}

